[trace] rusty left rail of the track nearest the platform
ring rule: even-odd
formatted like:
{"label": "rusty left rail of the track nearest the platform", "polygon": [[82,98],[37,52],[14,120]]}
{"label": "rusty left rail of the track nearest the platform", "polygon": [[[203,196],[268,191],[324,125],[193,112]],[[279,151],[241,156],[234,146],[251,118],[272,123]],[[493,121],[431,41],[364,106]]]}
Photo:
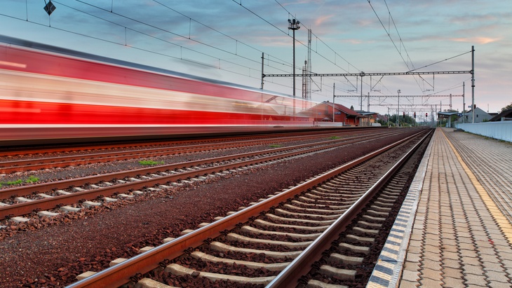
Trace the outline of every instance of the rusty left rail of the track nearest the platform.
{"label": "rusty left rail of the track nearest the platform", "polygon": [[247,207],[244,210],[238,211],[234,214],[217,220],[212,224],[198,228],[197,230],[191,233],[187,233],[180,238],[176,238],[173,241],[167,242],[166,244],[163,244],[159,247],[155,247],[148,252],[144,252],[143,254],[139,254],[131,259],[123,261],[116,266],[102,270],[95,275],[80,280],[79,282],[70,284],[67,286],[67,288],[119,287],[122,284],[129,282],[131,276],[137,273],[147,273],[149,270],[158,267],[161,261],[165,259],[174,259],[175,257],[183,254],[185,249],[202,245],[204,240],[208,238],[215,238],[221,235],[222,231],[234,228],[236,224],[248,221],[251,217],[260,214],[262,211],[269,210],[271,207],[276,206],[278,203],[282,203],[288,198],[292,198],[293,196],[302,193],[309,188],[313,188],[314,186],[323,183],[326,181],[326,179],[335,177],[337,174],[349,170],[351,167],[361,164],[370,158],[373,158],[381,153],[384,153],[385,151],[388,151],[389,149],[392,149],[395,146],[407,142],[413,137],[417,137],[421,133],[424,133],[424,131],[418,132],[415,135],[411,135],[409,137],[405,137],[405,139],[401,139],[398,142],[389,144],[388,146],[378,149],[377,151],[373,151],[372,153],[368,153],[367,155],[357,158],[356,160],[352,160],[351,162],[346,163],[345,165],[342,165],[335,170],[325,172],[321,176],[305,181],[304,183],[290,188],[287,191],[283,191],[282,193],[279,193],[272,198],[263,200],[262,202]]}

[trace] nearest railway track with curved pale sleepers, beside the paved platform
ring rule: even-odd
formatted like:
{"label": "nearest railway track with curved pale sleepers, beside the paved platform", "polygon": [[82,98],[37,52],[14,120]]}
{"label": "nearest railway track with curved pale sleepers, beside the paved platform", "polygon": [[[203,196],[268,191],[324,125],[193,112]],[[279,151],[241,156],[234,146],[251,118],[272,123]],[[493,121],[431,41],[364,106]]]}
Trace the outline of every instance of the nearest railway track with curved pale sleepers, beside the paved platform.
{"label": "nearest railway track with curved pale sleepers, beside the paved platform", "polygon": [[428,136],[407,137],[143,254],[115,259],[112,268],[69,287],[361,284],[371,273],[361,269],[378,257],[375,238],[386,233],[414,174],[407,160],[417,161]]}

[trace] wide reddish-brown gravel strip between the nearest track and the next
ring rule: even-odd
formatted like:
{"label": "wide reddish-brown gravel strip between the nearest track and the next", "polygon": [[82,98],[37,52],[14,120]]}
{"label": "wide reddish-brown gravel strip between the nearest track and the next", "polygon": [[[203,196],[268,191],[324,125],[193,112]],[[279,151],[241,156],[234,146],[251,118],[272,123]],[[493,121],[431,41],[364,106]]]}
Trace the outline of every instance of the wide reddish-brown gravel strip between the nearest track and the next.
{"label": "wide reddish-brown gravel strip between the nearest track and the next", "polygon": [[[412,131],[410,132],[412,134]],[[86,270],[129,258],[238,207],[357,158],[404,136],[345,146],[312,156],[118,201],[79,213],[0,230],[0,287],[63,287]]]}

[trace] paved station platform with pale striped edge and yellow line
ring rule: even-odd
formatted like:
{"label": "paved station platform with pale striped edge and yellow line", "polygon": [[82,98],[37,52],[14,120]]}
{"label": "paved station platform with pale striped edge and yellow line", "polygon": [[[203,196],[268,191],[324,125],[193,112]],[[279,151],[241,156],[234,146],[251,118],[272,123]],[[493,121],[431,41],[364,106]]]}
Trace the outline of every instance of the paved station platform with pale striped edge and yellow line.
{"label": "paved station platform with pale striped edge and yellow line", "polygon": [[437,128],[367,287],[512,287],[512,144]]}

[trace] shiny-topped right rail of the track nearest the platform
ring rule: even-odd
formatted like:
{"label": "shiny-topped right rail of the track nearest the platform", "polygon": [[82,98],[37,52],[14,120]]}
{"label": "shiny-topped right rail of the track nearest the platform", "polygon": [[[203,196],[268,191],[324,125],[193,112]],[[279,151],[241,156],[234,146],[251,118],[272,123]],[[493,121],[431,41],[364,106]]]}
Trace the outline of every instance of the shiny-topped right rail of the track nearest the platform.
{"label": "shiny-topped right rail of the track nearest the platform", "polygon": [[297,287],[299,279],[302,275],[311,270],[313,264],[319,260],[318,257],[322,256],[322,252],[327,250],[332,241],[339,238],[339,231],[343,231],[346,226],[351,224],[351,221],[363,210],[368,201],[375,196],[375,194],[391,179],[391,177],[398,172],[407,160],[417,151],[419,146],[425,141],[426,137],[431,132],[425,135],[415,146],[408,151],[405,156],[400,158],[398,162],[391,167],[391,169],[384,174],[368,191],[366,191],[356,203],[354,203],[349,210],[346,210],[341,217],[339,217],[335,223],[327,228],[311,245],[309,245],[304,251],[295,258],[290,265],[279,273],[274,280],[267,284],[266,288],[286,288],[286,287]]}

